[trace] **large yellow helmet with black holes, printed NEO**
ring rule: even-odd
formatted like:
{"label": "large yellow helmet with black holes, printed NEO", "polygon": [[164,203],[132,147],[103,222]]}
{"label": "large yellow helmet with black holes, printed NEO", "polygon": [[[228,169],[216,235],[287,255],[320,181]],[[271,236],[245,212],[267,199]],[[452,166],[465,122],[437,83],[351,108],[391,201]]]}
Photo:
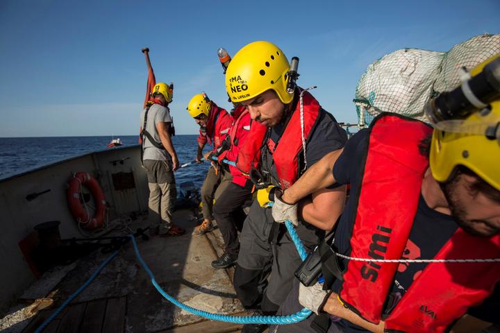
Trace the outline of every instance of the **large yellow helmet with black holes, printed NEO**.
{"label": "large yellow helmet with black holes, printed NEO", "polygon": [[294,94],[286,92],[290,62],[278,46],[253,42],[235,54],[226,71],[226,90],[233,103],[253,99],[273,89],[288,104]]}

